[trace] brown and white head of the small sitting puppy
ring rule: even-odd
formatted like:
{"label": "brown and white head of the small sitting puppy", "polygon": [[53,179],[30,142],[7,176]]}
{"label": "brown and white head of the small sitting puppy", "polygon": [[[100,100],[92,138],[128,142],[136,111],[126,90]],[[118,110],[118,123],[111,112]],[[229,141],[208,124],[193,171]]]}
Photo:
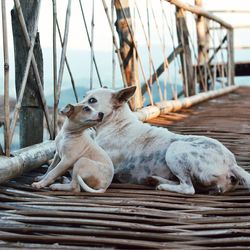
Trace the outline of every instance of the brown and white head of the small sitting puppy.
{"label": "brown and white head of the small sitting puppy", "polygon": [[103,118],[102,112],[97,112],[93,107],[83,103],[68,104],[60,110],[60,113],[82,127],[95,126]]}

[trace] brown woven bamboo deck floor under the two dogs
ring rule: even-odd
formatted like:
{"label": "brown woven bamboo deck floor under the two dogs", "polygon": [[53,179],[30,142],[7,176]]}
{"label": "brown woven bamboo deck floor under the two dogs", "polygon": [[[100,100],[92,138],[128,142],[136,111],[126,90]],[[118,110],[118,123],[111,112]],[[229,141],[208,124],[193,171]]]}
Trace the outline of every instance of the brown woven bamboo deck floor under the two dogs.
{"label": "brown woven bamboo deck floor under the two dogs", "polygon": [[[219,139],[250,171],[250,88],[152,124]],[[250,193],[179,195],[113,184],[104,194],[38,192],[30,175],[0,186],[0,248],[250,249]]]}

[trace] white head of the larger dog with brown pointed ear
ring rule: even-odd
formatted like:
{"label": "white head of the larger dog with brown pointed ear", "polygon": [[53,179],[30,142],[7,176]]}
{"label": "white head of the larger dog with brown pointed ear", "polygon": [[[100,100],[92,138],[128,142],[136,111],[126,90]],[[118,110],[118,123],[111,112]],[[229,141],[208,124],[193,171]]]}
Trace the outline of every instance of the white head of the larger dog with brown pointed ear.
{"label": "white head of the larger dog with brown pointed ear", "polygon": [[93,107],[97,112],[102,112],[105,118],[114,110],[125,105],[125,103],[127,103],[134,95],[135,90],[135,86],[120,90],[112,90],[108,88],[95,89],[87,92],[82,103]]}

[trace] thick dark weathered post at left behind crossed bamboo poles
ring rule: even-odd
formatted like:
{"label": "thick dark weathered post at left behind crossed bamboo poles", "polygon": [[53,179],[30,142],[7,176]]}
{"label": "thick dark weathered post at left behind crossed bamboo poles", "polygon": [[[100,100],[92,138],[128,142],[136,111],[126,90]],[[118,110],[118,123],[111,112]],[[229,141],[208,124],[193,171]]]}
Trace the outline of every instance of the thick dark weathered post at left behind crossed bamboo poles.
{"label": "thick dark weathered post at left behind crossed bamboo poles", "polygon": [[[19,96],[22,78],[25,72],[24,62],[28,57],[27,47],[29,48],[31,43],[29,36],[28,43],[27,39],[23,36],[23,30],[18,19],[18,11],[20,11],[20,9],[23,10],[27,31],[29,35],[32,36],[39,15],[40,0],[32,0],[29,2],[22,0],[19,5],[16,6],[18,7],[12,11],[12,29],[15,49],[16,91],[17,96]],[[36,62],[38,63],[38,74],[40,75],[41,84],[43,84],[43,57],[38,33],[36,34],[34,55],[35,57],[32,56],[32,60],[36,58]],[[39,95],[40,89],[36,84],[35,74],[34,68],[30,68],[19,115],[21,147],[43,141],[43,105]],[[35,133],[31,133],[31,131],[35,131]]]}

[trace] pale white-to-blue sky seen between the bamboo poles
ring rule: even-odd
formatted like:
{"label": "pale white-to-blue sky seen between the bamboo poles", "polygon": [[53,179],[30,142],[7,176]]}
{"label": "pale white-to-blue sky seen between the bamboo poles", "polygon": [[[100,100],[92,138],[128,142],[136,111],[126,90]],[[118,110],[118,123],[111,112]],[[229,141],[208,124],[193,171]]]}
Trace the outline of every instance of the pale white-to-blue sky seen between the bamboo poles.
{"label": "pale white-to-blue sky seen between the bamboo poles", "polygon": [[[184,1],[184,0],[183,0]],[[58,21],[61,27],[62,33],[64,30],[64,20],[65,13],[67,8],[67,0],[57,1],[57,14]],[[107,5],[110,9],[110,0],[106,0]],[[146,28],[146,8],[145,8],[146,0],[137,1],[140,14],[142,15],[142,19],[144,20],[144,25]],[[162,24],[162,16],[159,14],[160,12],[160,1],[151,0],[152,8],[155,12],[157,18],[157,24],[159,29],[163,28]],[[193,0],[185,1],[190,4],[193,4]],[[136,13],[136,9],[133,8],[133,1],[130,1],[132,9]],[[90,23],[92,17],[92,1],[90,0],[82,0],[84,14],[87,19],[88,28],[90,30]],[[110,27],[104,12],[104,8],[102,6],[102,1],[94,1],[95,8],[95,33],[94,33],[94,48],[97,51],[98,62],[101,65],[102,74],[104,75],[104,79],[110,81],[112,70],[112,37],[110,32]],[[204,9],[206,10],[215,10],[215,9],[233,9],[233,10],[249,10],[250,11],[250,1],[249,0],[203,0]],[[164,6],[169,6],[168,3],[164,3]],[[7,16],[8,16],[8,44],[9,44],[9,54],[10,54],[10,70],[11,70],[11,80],[13,81],[14,76],[14,63],[13,63],[13,43],[12,43],[12,32],[11,32],[11,19],[10,19],[10,10],[13,7],[13,1],[6,0],[7,7]],[[173,6],[171,8],[167,7],[166,14],[170,14],[171,11],[174,11]],[[133,12],[133,11],[132,11]],[[133,13],[134,13],[133,12]],[[216,15],[220,16],[222,19],[228,21],[232,25],[241,25],[241,24],[250,24],[250,13],[238,13],[238,14],[223,14],[216,13]],[[171,18],[169,23],[171,25]],[[151,22],[154,22],[151,15]],[[191,21],[190,23],[192,23]],[[137,22],[135,23],[137,27],[136,30],[136,39],[138,41],[139,46],[145,46],[145,39],[143,35],[143,29],[137,18]],[[166,28],[166,27],[165,27]],[[41,12],[39,18],[39,32],[40,32],[40,40],[42,49],[44,51],[44,60],[45,60],[45,78],[52,77],[52,1],[51,0],[42,0],[41,1]],[[235,31],[235,46],[250,46],[250,28],[246,29],[238,29]],[[157,34],[156,28],[151,29],[151,43],[152,46],[159,46],[160,38]],[[247,34],[247,35],[246,35]],[[163,37],[161,38],[163,39]],[[166,35],[165,37],[166,47],[171,47],[171,37],[170,35]],[[169,42],[170,41],[170,42]],[[59,40],[57,39],[57,44],[59,47]],[[69,32],[69,41],[68,41],[68,57],[72,63],[72,71],[76,75],[76,78],[82,78],[84,75],[85,78],[89,77],[89,61],[90,61],[90,49],[87,41],[86,32],[83,26],[83,19],[80,12],[79,1],[72,0],[72,10],[71,10],[71,19],[70,19],[70,32]],[[98,52],[99,51],[99,52]],[[143,53],[142,53],[143,54]],[[169,54],[168,52],[166,54]],[[244,54],[244,58],[250,58],[250,50],[242,53]],[[158,54],[157,54],[158,55]],[[58,57],[60,56],[60,51],[58,53]],[[142,55],[143,57],[143,55]],[[0,80],[3,77],[3,46],[2,46],[2,22],[0,20]],[[158,58],[155,59],[156,61]],[[159,62],[162,61],[162,58],[159,59]],[[58,58],[59,62],[59,58]],[[84,67],[83,67],[84,66]],[[117,69],[117,72],[119,69]],[[118,75],[118,73],[117,73]],[[119,77],[119,76],[117,76]],[[67,78],[67,74],[66,74]],[[68,79],[68,78],[67,78]],[[95,76],[96,79],[96,76]],[[2,81],[2,80],[1,80]],[[50,87],[47,87],[48,92],[51,92],[51,84],[48,84]],[[2,83],[0,83],[0,94],[3,93],[3,88],[1,87]],[[65,85],[66,87],[66,85]]]}

